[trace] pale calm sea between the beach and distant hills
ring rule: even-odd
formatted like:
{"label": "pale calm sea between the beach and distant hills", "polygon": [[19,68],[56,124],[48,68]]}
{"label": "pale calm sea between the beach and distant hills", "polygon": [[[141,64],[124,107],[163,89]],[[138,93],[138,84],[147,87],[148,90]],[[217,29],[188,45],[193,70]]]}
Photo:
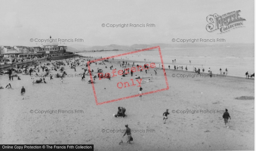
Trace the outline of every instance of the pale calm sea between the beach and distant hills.
{"label": "pale calm sea between the beach and distant hills", "polygon": [[[82,56],[91,57],[110,57],[113,55],[122,54],[131,51],[101,51],[101,52],[81,52],[78,53]],[[168,69],[170,65],[171,69],[183,66],[183,70],[187,66],[188,71],[194,71],[195,68],[200,68],[200,72],[208,73],[210,68],[212,73],[220,74],[220,68],[222,73],[226,72],[228,76],[245,77],[245,73],[253,74],[255,51],[254,44],[248,45],[229,45],[229,46],[211,46],[211,47],[197,47],[197,48],[161,48],[164,67]],[[118,58],[120,59],[120,57]],[[140,61],[146,61],[148,63],[155,62],[157,67],[161,63],[158,49],[134,53],[132,56],[123,56],[124,60],[137,61],[135,64],[142,64]],[[176,61],[174,61],[176,59]],[[191,63],[189,62],[191,61]],[[129,61],[128,61],[129,62]],[[131,63],[130,63],[131,64]]]}

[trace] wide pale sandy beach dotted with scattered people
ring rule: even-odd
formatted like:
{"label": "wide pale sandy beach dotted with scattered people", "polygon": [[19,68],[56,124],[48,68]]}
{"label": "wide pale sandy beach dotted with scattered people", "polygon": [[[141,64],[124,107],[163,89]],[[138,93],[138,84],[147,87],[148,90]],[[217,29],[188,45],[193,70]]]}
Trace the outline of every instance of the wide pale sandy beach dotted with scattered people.
{"label": "wide pale sandy beach dotted with scattered people", "polygon": [[[113,60],[113,68],[122,69],[117,61]],[[93,63],[91,68],[96,72],[97,68],[103,69],[104,73],[111,72],[113,69],[109,67],[112,64]],[[147,74],[138,72],[143,78],[153,75],[153,79],[149,78],[152,82],[142,82],[143,93],[166,88],[162,69],[158,65],[156,69],[157,76],[154,69]],[[143,95],[141,101],[135,97],[97,106],[92,86],[87,83],[90,77],[86,76],[85,82],[81,77],[75,77],[75,74],[84,72],[82,67],[76,67],[75,72],[66,65],[65,71],[73,77],[63,78],[63,83],[60,78],[50,80],[47,77],[46,84],[34,85],[29,75],[18,74],[22,80],[14,77],[11,82],[8,74],[0,75],[0,84],[4,87],[0,90],[1,144],[94,144],[95,151],[254,150],[254,99],[235,99],[241,96],[254,98],[252,79],[233,76],[181,78],[177,76],[195,73],[166,69],[169,90]],[[60,71],[50,71],[50,74],[56,73]],[[118,82],[135,81],[136,73],[133,77],[130,74],[125,77],[118,75],[111,81],[96,78],[94,85],[98,100],[103,102],[138,94],[138,84],[122,89],[116,86]],[[43,74],[42,69],[38,74]],[[5,88],[8,82],[13,89]],[[22,86],[26,89],[24,100],[20,96]],[[117,107],[125,107],[127,117],[113,117]],[[229,128],[224,127],[222,118],[221,111],[225,108],[231,117]],[[162,115],[166,109],[170,115],[163,124]],[[35,113],[48,110],[70,113]],[[83,112],[75,113],[75,110]],[[181,111],[191,112],[177,113]],[[192,114],[192,111],[198,112]],[[209,113],[204,113],[207,111]],[[124,130],[125,124],[138,130],[132,132],[131,145],[125,143],[126,136],[122,139],[124,133],[110,132]],[[124,143],[119,145],[121,140]]]}

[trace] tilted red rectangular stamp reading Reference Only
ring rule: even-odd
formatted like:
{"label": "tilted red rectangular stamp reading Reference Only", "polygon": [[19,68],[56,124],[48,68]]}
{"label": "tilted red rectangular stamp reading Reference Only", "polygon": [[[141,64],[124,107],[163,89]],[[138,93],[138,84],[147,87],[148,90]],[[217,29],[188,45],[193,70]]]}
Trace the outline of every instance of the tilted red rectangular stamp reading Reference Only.
{"label": "tilted red rectangular stamp reading Reference Only", "polygon": [[[120,67],[118,66],[118,68],[124,68],[124,69],[120,69],[120,70],[118,70],[116,68],[112,69],[112,68],[114,68],[112,65],[112,68],[110,67],[109,72],[108,71],[103,72],[102,69],[98,68],[97,76],[94,75],[94,77],[93,77],[93,72],[91,72],[91,68],[99,67],[99,64],[102,65],[103,61],[108,62],[109,59],[114,60],[114,58],[120,58],[120,57],[126,57],[126,56],[133,57],[131,55],[142,55],[141,53],[145,53],[150,50],[154,51],[154,49],[155,49],[155,53],[158,50],[158,52],[159,52],[158,56],[160,57],[159,62],[161,62],[161,64],[162,64],[163,73],[160,72],[160,74],[159,74],[160,76],[157,75],[157,67],[154,62],[145,63],[144,65],[137,64],[137,66],[134,66],[134,67],[133,67],[133,65],[134,65],[134,62],[133,62],[132,67],[127,67],[127,60],[126,60],[126,64],[123,61],[123,65],[121,65],[121,63],[120,63]],[[146,54],[149,54],[149,52]],[[155,57],[155,55],[156,54],[154,54],[153,57]],[[146,59],[144,59],[144,60],[146,60]],[[97,66],[97,62],[100,62],[100,63],[98,63],[98,66]],[[118,61],[118,62],[121,62],[121,61]],[[91,67],[93,65],[92,63],[94,63],[95,66]],[[108,62],[108,63],[112,63],[112,62]],[[141,49],[141,50],[132,51],[132,52],[127,52],[127,53],[122,53],[119,55],[113,55],[110,57],[104,57],[104,58],[97,59],[97,60],[91,60],[91,61],[88,61],[87,64],[88,64],[88,68],[89,68],[89,72],[90,72],[91,86],[93,88],[94,98],[95,98],[95,102],[97,105],[110,103],[110,102],[116,102],[116,101],[124,100],[124,99],[131,99],[131,98],[135,98],[137,96],[153,94],[155,92],[169,90],[169,84],[167,81],[167,76],[166,76],[165,67],[164,67],[163,58],[162,58],[162,53],[161,53],[161,49],[159,46]],[[140,62],[140,64],[142,64],[142,63]],[[104,65],[105,65],[105,63],[104,63]],[[130,66],[129,63],[128,63],[128,66]],[[105,68],[107,68],[107,66]],[[159,68],[160,68],[160,64],[159,64]],[[106,69],[106,70],[108,70],[108,69]],[[145,70],[147,74],[144,74],[142,72],[143,70]],[[154,72],[151,70],[153,70]],[[147,79],[150,77],[140,78],[140,76],[137,77],[137,75],[135,76],[135,79],[133,80],[133,74],[138,74],[138,75],[144,74],[143,76],[145,76],[145,75],[148,76],[152,72],[155,74],[156,79],[158,78],[158,81],[161,80],[161,83],[158,82],[158,83],[151,84],[152,79],[144,80],[144,82],[143,82],[143,79]],[[128,74],[130,74],[130,73],[131,73],[132,79],[128,78]],[[95,81],[95,78],[97,78],[97,77],[98,77],[98,80]],[[151,78],[153,78],[152,74],[151,74]],[[106,80],[106,79],[109,79],[109,80]],[[146,91],[148,91],[148,92],[144,92],[144,93],[139,92],[139,94],[138,94],[137,91],[135,90],[135,88],[141,87],[142,84],[144,84],[143,87],[146,87]],[[105,87],[105,88],[103,88],[103,87]],[[159,87],[163,87],[163,88],[159,89]],[[157,88],[157,90],[154,90],[155,88]],[[97,97],[96,91],[97,91],[98,97]],[[105,91],[105,92],[103,92],[103,91]],[[102,95],[102,94],[105,94],[105,95]],[[108,95],[106,95],[106,94],[108,94]],[[101,98],[101,100],[98,100],[98,98]]]}

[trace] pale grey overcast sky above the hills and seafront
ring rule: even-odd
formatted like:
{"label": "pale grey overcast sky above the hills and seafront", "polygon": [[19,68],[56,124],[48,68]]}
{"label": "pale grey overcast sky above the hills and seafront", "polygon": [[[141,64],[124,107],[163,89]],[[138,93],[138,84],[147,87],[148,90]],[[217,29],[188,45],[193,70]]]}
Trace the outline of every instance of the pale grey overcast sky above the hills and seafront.
{"label": "pale grey overcast sky above the hills and seafront", "polygon": [[[172,39],[225,39],[254,43],[253,0],[0,0],[0,45],[34,46],[30,39],[83,39],[66,45],[168,43]],[[206,17],[241,10],[243,28],[206,31]],[[105,24],[105,27],[102,27]],[[112,28],[106,24],[154,24]]]}

